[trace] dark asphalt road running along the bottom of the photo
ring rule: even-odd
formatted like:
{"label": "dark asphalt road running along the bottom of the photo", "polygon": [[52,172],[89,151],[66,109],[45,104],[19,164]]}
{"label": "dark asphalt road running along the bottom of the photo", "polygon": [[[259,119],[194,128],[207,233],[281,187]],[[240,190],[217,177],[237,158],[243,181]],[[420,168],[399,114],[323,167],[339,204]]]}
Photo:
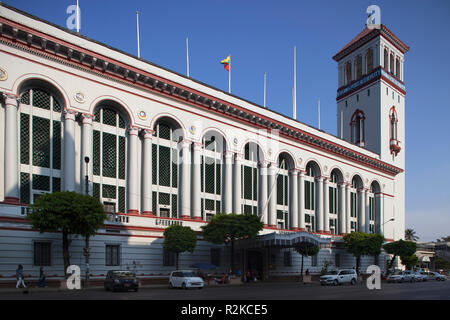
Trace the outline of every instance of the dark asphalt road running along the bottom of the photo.
{"label": "dark asphalt road running along the bottom of the photo", "polygon": [[369,290],[365,283],[355,286],[320,286],[317,283],[251,283],[211,286],[202,290],[140,288],[138,292],[109,292],[103,288],[66,291],[22,290],[1,292],[0,300],[450,300],[450,281],[418,283],[382,282],[380,290]]}

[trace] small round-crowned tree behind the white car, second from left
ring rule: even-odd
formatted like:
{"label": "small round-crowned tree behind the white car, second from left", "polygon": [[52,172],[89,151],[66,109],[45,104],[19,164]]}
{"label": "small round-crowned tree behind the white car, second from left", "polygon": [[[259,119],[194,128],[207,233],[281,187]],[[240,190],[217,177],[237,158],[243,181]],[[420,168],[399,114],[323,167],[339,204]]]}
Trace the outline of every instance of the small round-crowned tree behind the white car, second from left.
{"label": "small round-crowned tree behind the white car, second from left", "polygon": [[172,225],[164,230],[164,250],[173,252],[177,256],[177,270],[181,252],[194,252],[197,245],[197,233],[190,227]]}

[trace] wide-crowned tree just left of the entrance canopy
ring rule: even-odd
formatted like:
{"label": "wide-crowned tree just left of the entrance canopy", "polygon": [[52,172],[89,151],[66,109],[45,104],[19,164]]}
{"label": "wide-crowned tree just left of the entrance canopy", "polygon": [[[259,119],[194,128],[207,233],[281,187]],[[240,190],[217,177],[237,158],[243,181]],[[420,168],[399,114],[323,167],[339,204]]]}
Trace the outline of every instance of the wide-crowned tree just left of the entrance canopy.
{"label": "wide-crowned tree just left of the entrance canopy", "polygon": [[264,224],[253,214],[216,214],[211,222],[202,226],[203,238],[215,244],[230,244],[230,269],[234,268],[234,243],[240,239],[255,239]]}

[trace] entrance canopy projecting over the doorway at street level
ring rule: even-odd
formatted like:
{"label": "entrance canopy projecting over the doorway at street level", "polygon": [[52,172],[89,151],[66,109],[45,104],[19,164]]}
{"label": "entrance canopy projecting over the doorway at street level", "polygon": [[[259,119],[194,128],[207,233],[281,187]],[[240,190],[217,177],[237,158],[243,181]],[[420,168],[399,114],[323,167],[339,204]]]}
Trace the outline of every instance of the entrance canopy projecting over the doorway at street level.
{"label": "entrance canopy projecting over the doorway at street level", "polygon": [[330,238],[321,238],[309,232],[293,232],[293,233],[269,233],[260,236],[255,240],[240,240],[236,242],[236,246],[241,248],[255,247],[279,247],[293,248],[296,245],[308,242],[317,245],[319,248],[329,248],[331,246]]}

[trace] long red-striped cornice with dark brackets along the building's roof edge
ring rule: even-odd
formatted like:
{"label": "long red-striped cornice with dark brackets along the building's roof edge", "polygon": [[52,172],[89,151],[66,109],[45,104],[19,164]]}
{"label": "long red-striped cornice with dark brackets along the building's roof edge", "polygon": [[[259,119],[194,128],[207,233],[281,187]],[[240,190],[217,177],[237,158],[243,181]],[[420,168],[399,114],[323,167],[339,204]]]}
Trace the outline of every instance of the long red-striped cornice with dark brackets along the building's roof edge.
{"label": "long red-striped cornice with dark brackets along the building's roof edge", "polygon": [[247,125],[268,130],[279,130],[280,135],[304,145],[363,164],[366,167],[395,176],[403,169],[351,150],[302,129],[282,123],[217,97],[164,79],[144,70],[125,65],[120,61],[90,52],[74,44],[23,27],[0,17],[0,43],[41,58],[82,70],[116,83],[125,84],[152,94],[169,97],[204,110],[232,118]]}

